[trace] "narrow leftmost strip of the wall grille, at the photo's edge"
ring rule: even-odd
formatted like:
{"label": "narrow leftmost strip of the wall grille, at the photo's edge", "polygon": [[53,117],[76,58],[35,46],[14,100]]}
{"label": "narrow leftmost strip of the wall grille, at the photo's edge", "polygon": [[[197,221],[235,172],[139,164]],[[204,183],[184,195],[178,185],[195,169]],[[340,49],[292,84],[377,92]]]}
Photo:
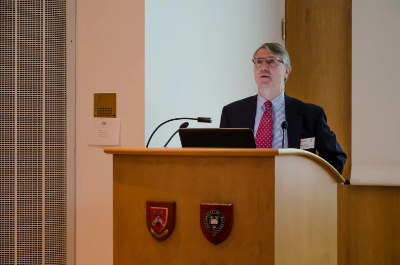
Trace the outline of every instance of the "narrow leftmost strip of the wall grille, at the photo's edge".
{"label": "narrow leftmost strip of the wall grille, at the photo's edge", "polygon": [[15,3],[0,1],[0,264],[15,248]]}

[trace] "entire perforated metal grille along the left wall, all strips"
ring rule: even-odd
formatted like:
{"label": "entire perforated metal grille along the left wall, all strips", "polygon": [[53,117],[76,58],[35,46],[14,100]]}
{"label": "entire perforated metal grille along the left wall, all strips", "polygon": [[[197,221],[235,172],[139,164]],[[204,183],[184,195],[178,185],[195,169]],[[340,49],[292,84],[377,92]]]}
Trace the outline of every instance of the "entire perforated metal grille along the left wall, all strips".
{"label": "entire perforated metal grille along the left wall, all strips", "polygon": [[43,2],[0,1],[0,265],[66,264],[67,0]]}

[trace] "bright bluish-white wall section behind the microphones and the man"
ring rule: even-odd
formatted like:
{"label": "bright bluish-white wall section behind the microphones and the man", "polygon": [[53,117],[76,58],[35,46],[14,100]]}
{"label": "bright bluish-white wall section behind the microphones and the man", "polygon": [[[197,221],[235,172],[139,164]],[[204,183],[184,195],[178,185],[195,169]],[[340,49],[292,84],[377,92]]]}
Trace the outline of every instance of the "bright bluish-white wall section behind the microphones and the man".
{"label": "bright bluish-white wall section behind the microphones and the man", "polygon": [[[284,44],[284,0],[145,2],[145,142],[165,120],[219,127],[224,105],[257,93],[253,52]],[[161,127],[149,147],[162,147],[184,121]],[[176,135],[169,147],[180,147]]]}

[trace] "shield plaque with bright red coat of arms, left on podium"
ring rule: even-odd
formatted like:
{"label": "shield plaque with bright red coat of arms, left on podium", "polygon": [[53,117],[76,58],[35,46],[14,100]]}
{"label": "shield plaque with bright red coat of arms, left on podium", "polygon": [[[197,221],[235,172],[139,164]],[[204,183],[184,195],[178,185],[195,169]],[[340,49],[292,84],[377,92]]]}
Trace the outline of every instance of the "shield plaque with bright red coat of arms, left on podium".
{"label": "shield plaque with bright red coat of arms, left on podium", "polygon": [[154,239],[164,241],[175,227],[175,202],[146,201],[147,228]]}

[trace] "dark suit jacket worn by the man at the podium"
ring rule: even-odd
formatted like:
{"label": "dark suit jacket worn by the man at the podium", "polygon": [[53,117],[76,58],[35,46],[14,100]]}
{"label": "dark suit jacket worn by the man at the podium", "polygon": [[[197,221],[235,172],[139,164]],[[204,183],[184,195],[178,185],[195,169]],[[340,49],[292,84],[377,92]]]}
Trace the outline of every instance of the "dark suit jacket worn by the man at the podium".
{"label": "dark suit jacket worn by the man at the podium", "polygon": [[[220,128],[254,130],[256,109],[257,95],[226,105],[222,109]],[[285,94],[285,115],[288,147],[299,149],[301,139],[315,137],[315,148],[306,151],[314,154],[318,151],[341,174],[347,157],[328,126],[324,109]]]}

